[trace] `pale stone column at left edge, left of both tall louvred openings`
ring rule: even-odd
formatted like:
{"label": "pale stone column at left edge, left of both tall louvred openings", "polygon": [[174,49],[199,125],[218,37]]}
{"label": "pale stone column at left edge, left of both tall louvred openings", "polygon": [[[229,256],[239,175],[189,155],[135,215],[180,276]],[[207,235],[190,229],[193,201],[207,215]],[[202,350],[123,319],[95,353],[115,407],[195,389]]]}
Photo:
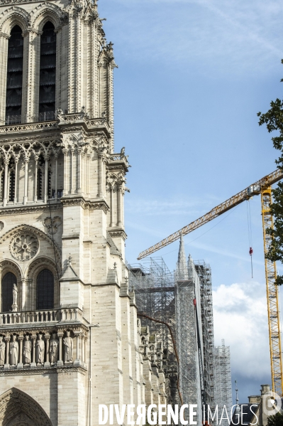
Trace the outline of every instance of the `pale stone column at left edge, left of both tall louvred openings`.
{"label": "pale stone column at left edge, left of both tall louvred openings", "polygon": [[0,125],[5,124],[6,118],[6,84],[7,84],[7,56],[8,56],[8,41],[10,36],[1,33],[0,35]]}

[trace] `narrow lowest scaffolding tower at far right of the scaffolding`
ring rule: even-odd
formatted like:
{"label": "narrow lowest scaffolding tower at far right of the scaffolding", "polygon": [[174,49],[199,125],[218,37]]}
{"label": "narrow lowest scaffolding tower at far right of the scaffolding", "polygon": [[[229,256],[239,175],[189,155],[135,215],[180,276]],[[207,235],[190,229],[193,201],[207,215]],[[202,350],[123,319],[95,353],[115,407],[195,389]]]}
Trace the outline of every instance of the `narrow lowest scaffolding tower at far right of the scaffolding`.
{"label": "narrow lowest scaffolding tower at far right of the scaffolding", "polygon": [[[224,405],[228,415],[231,415],[232,402],[232,383],[230,366],[230,348],[225,346],[222,340],[222,346],[216,346],[214,349],[215,361],[215,403],[218,405],[218,413],[223,412]],[[220,414],[221,415],[221,414]],[[228,426],[228,420],[223,420],[221,425]]]}

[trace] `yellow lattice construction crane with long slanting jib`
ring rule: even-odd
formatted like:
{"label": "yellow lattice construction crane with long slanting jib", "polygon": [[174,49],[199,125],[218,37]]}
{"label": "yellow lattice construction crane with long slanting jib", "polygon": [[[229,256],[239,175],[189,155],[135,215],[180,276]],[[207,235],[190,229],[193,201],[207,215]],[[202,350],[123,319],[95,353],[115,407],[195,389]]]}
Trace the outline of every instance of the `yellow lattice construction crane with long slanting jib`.
{"label": "yellow lattice construction crane with long slanting jib", "polygon": [[[267,228],[273,229],[273,217],[270,212],[270,204],[272,203],[271,186],[273,183],[283,179],[283,171],[275,170],[273,173],[268,174],[264,178],[253,183],[245,188],[243,191],[237,193],[235,196],[214,207],[209,213],[201,216],[201,218],[194,220],[184,228],[177,230],[177,232],[169,235],[169,237],[160,241],[152,247],[144,250],[138,255],[138,260],[152,255],[152,253],[160,250],[162,247],[173,243],[180,238],[180,235],[187,235],[193,230],[199,228],[204,223],[217,218],[231,208],[238,206],[243,201],[249,200],[253,196],[261,194],[262,200],[262,228],[263,228],[263,241],[265,254],[267,253],[272,237],[266,233]],[[265,280],[267,292],[267,314],[268,326],[270,336],[270,361],[271,361],[271,377],[272,377],[272,390],[278,395],[282,396],[283,386],[283,371],[282,371],[282,351],[281,351],[281,336],[280,336],[280,319],[279,319],[279,294],[278,287],[274,284],[277,277],[276,264],[270,260],[265,259]]]}

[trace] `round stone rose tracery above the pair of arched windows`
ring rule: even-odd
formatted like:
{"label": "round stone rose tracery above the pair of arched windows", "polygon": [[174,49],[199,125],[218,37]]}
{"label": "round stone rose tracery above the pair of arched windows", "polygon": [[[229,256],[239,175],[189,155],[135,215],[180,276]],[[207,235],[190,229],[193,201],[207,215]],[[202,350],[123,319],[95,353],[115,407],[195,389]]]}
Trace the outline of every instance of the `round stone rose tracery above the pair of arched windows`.
{"label": "round stone rose tracery above the pair of arched windows", "polygon": [[30,233],[19,233],[11,240],[10,252],[16,260],[30,260],[38,252],[38,238]]}

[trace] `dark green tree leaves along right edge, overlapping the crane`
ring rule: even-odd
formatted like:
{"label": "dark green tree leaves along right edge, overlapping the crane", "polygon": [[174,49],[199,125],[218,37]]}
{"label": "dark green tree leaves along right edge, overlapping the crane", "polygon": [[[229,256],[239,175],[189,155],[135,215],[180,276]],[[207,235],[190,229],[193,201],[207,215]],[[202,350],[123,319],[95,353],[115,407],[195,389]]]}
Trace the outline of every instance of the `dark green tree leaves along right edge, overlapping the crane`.
{"label": "dark green tree leaves along right edge, overlapping the crane", "polygon": [[[283,60],[282,60],[283,63]],[[283,79],[281,80],[283,81]],[[278,169],[283,171],[283,100],[275,100],[270,103],[270,110],[262,114],[258,112],[260,117],[259,124],[266,124],[268,132],[277,132],[272,137],[273,147],[280,151],[279,158],[275,160]],[[267,233],[272,235],[272,243],[267,252],[266,258],[272,262],[283,262],[283,182],[278,183],[277,188],[272,190],[273,203],[270,206],[274,218],[274,230],[268,229]],[[278,275],[277,285],[283,284],[283,275]]]}

